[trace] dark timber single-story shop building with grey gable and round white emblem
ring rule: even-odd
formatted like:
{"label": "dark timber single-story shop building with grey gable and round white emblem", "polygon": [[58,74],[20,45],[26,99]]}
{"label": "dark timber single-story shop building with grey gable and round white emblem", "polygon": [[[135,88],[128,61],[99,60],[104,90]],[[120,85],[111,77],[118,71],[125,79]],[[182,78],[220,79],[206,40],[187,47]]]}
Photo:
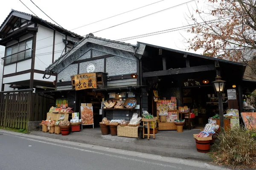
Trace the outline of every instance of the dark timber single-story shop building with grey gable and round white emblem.
{"label": "dark timber single-story shop building with grey gable and round white emblem", "polygon": [[[81,103],[92,103],[94,124],[99,124],[103,117],[129,120],[133,113],[143,111],[157,116],[157,100],[161,99],[161,102],[175,103],[177,108],[173,110],[179,119],[186,118],[179,113],[179,107],[187,106],[189,113],[195,112],[195,118],[186,118],[190,129],[204,126],[218,113],[218,97],[212,86],[217,75],[226,81],[222,94],[224,111],[242,112],[243,94],[256,87],[254,81],[243,79],[245,68],[242,63],[143,42],[131,45],[89,34],[49,65],[46,72],[57,74],[57,83],[55,91],[46,93],[56,99],[67,98],[75,112],[80,112]],[[80,76],[85,78],[85,86],[77,82]],[[93,79],[90,84],[93,87],[88,87],[87,77]],[[128,97],[137,100],[137,107],[101,109],[103,100],[117,102]],[[162,130],[173,128],[165,123]]]}

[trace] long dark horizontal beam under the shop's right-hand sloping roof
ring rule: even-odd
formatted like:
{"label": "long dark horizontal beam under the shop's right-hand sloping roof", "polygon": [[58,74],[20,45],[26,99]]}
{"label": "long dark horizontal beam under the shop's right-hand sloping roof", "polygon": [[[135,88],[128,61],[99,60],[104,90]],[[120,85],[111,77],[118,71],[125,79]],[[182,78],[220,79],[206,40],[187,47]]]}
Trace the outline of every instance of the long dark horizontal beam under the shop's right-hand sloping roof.
{"label": "long dark horizontal beam under the shop's right-hand sloping roof", "polygon": [[162,70],[162,71],[153,71],[143,73],[143,77],[156,77],[156,76],[167,76],[167,75],[175,75],[175,74],[186,74],[186,73],[195,73],[200,71],[212,71],[215,70],[215,65],[201,65],[195,67],[188,68],[177,68],[172,70]]}

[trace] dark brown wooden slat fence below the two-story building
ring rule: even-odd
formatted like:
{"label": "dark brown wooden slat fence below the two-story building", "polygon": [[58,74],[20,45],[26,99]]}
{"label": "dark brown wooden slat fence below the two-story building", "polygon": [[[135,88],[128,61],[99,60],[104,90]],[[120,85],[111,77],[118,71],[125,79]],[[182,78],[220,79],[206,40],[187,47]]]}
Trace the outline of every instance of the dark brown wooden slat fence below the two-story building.
{"label": "dark brown wooden slat fence below the two-story building", "polygon": [[0,92],[0,126],[27,129],[29,121],[46,119],[54,99],[33,90]]}

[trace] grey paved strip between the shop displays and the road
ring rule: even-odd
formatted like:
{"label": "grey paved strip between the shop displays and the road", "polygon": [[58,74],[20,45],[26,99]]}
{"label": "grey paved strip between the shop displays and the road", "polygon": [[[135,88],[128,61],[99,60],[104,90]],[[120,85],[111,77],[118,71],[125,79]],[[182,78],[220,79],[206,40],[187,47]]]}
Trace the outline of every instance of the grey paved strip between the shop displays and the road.
{"label": "grey paved strip between the shop displays and the road", "polygon": [[80,132],[70,132],[67,136],[44,133],[42,131],[33,131],[30,134],[141,153],[210,161],[211,158],[206,153],[199,153],[196,150],[193,134],[199,133],[199,131],[200,130],[184,130],[183,133],[177,133],[176,131],[158,131],[155,136],[156,139],[151,137],[150,140],[102,135],[100,128],[86,128]]}

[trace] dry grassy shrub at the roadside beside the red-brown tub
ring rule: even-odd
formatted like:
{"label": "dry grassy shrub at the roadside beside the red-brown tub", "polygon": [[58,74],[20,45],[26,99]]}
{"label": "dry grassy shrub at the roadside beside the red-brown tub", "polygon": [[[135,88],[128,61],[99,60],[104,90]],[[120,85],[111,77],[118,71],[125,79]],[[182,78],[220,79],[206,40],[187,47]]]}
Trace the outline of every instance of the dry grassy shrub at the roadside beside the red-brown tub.
{"label": "dry grassy shrub at the roadside beside the red-brown tub", "polygon": [[217,135],[213,155],[216,163],[229,166],[256,167],[256,131],[237,127]]}

